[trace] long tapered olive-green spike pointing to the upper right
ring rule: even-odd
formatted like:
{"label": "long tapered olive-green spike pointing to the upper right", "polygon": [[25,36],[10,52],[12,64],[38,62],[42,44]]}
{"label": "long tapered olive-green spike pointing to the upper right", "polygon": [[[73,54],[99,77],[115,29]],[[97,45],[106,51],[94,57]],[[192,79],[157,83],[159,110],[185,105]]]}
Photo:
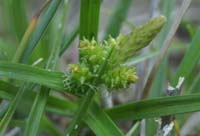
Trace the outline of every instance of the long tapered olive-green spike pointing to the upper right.
{"label": "long tapered olive-green spike pointing to the upper right", "polygon": [[165,22],[166,18],[164,16],[159,16],[135,28],[131,34],[119,36],[116,39],[119,44],[116,46],[115,56],[113,57],[116,58],[118,62],[125,62],[137,51],[146,47],[160,32]]}

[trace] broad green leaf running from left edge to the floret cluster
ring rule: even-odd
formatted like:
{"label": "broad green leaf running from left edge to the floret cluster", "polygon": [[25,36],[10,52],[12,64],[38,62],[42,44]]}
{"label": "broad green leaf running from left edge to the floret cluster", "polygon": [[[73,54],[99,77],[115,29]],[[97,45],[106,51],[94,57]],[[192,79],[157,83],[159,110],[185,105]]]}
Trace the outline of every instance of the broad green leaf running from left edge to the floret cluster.
{"label": "broad green leaf running from left edge to the floret cluster", "polygon": [[56,90],[64,90],[64,73],[48,71],[25,64],[0,62],[0,76],[37,83]]}

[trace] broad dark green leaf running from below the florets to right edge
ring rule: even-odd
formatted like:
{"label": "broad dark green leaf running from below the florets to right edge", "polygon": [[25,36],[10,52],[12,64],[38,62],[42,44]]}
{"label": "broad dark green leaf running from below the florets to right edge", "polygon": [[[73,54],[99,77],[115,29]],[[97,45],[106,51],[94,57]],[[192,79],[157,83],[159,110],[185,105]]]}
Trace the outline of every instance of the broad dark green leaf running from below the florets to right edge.
{"label": "broad dark green leaf running from below the florets to right edge", "polygon": [[107,109],[114,120],[138,120],[200,110],[200,94],[161,97],[132,102]]}

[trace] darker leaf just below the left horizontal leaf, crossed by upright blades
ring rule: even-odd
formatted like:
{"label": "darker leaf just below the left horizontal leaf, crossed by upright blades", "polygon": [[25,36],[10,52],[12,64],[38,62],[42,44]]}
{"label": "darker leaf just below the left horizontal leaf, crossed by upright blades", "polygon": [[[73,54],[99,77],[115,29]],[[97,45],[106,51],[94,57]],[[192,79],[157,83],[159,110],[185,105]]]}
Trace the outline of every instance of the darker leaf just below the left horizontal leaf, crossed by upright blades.
{"label": "darker leaf just below the left horizontal leaf, crossed by upright blades", "polygon": [[[15,97],[18,90],[18,87],[0,80],[0,98],[10,101]],[[28,90],[23,97],[24,103],[32,104],[32,101],[34,100],[35,96],[36,92]],[[57,96],[49,96],[47,100],[46,111],[57,113],[59,115],[71,116],[73,115],[77,107],[78,105],[76,103],[73,103],[68,99],[59,98]]]}

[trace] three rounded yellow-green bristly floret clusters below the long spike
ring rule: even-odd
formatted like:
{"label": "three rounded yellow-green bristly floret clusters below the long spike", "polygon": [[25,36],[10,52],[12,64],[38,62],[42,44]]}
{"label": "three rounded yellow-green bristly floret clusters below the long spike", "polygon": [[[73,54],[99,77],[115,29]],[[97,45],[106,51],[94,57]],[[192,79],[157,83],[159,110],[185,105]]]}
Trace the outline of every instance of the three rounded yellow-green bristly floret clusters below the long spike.
{"label": "three rounded yellow-green bristly floret clusters below the long spike", "polygon": [[[114,63],[112,55],[107,59],[112,48],[117,48],[118,44],[119,39],[111,37],[104,43],[86,39],[81,41],[79,45],[80,62],[69,65],[65,88],[75,94],[86,94],[88,90],[91,90],[89,88],[96,90],[102,84],[106,85],[109,90],[118,90],[135,83],[137,76],[134,68]],[[98,71],[106,59],[108,62],[105,71],[94,87],[92,83],[99,76]]]}

